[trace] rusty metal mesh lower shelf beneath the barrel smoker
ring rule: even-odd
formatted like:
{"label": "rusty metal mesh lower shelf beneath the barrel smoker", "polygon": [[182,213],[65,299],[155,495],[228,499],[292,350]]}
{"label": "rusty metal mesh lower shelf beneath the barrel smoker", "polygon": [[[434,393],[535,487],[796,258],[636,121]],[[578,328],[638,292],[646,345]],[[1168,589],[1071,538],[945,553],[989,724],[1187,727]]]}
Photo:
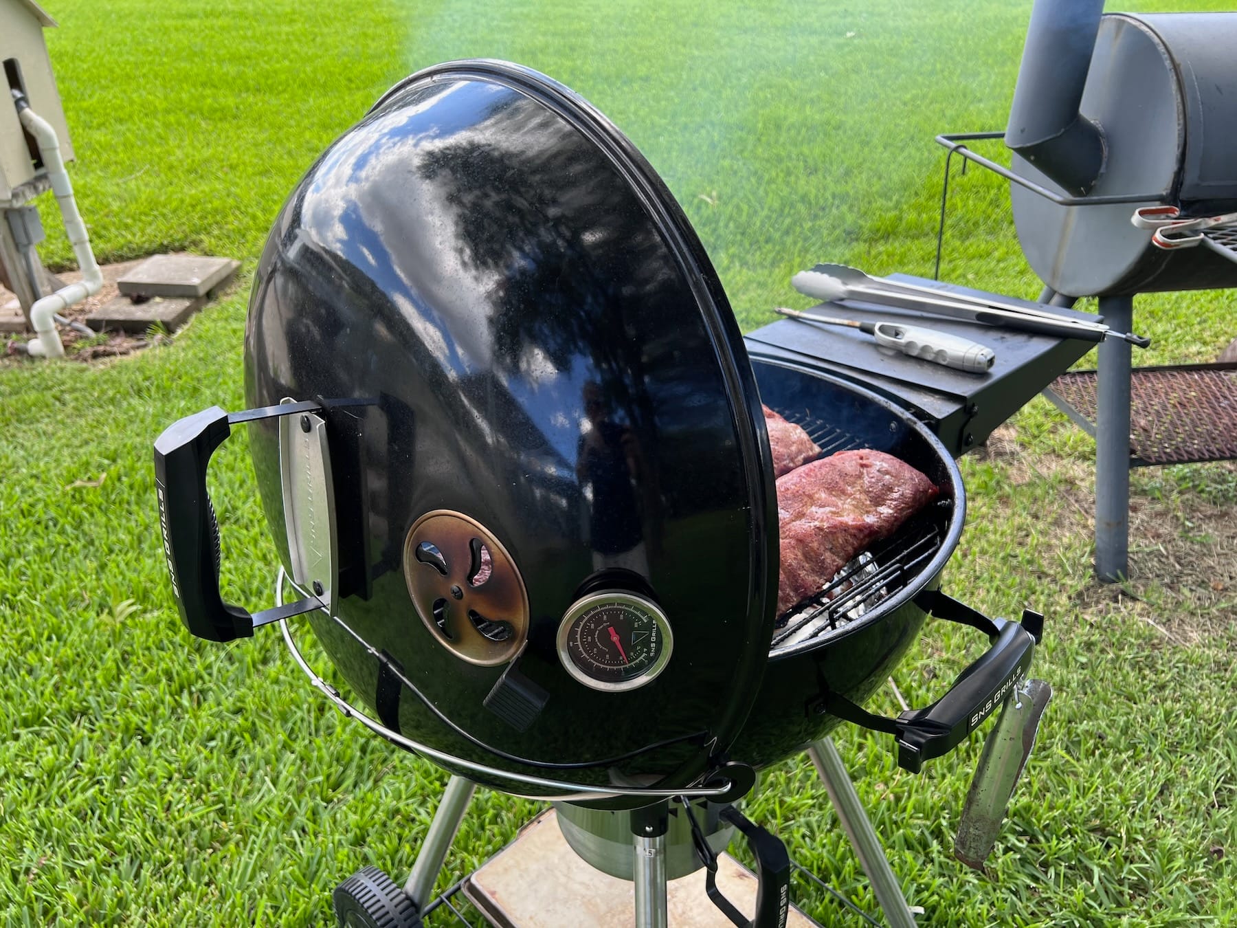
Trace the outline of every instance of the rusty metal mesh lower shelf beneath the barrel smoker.
{"label": "rusty metal mesh lower shelf beneath the barrel smoker", "polygon": [[[1096,384],[1070,371],[1044,393],[1094,436]],[[1129,389],[1131,465],[1237,459],[1237,364],[1136,367]]]}

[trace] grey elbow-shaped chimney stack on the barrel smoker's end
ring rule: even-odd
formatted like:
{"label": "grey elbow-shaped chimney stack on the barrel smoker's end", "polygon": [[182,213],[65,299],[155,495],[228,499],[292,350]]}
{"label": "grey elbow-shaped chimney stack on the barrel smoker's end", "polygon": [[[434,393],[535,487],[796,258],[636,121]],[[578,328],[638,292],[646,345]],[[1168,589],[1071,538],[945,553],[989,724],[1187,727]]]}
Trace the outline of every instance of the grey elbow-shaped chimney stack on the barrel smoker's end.
{"label": "grey elbow-shaped chimney stack on the barrel smoker's end", "polygon": [[1035,0],[1006,145],[1074,195],[1103,171],[1105,137],[1079,113],[1103,0]]}

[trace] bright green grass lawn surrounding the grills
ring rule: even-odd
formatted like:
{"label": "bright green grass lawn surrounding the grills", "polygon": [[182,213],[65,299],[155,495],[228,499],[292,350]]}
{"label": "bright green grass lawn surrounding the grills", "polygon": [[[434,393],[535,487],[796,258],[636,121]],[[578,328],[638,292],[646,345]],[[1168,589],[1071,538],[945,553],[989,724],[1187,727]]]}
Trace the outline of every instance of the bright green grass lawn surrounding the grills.
{"label": "bright green grass lawn surrounding the grills", "polygon": [[[529,64],[646,152],[752,328],[773,304],[807,304],[787,281],[816,260],[930,275],[944,157],[931,137],[1003,126],[1029,2],[49,9],[99,259],[188,249],[240,257],[245,276],[171,346],[103,366],[0,367],[0,913],[12,926],[327,926],[329,892],[354,870],[403,879],[445,775],[313,698],[275,632],[229,647],[188,637],[151,468],[166,424],[240,408],[249,275],[301,173],[413,69],[469,56]],[[45,259],[64,266],[48,198],[40,205]],[[1038,292],[999,183],[970,172],[950,215],[946,278]],[[1225,293],[1138,307],[1155,342],[1141,364],[1211,360],[1237,335]],[[1221,924],[1237,911],[1237,469],[1137,471],[1138,575],[1101,588],[1091,455],[1035,401],[962,462],[970,518],[946,586],[990,614],[1044,611],[1038,673],[1058,694],[990,876],[951,857],[977,742],[913,777],[887,739],[837,735],[928,924]],[[226,595],[263,604],[275,557],[242,436],[212,475]],[[897,673],[908,699],[930,702],[977,652],[971,638],[930,626]],[[876,703],[893,708],[888,694]],[[479,794],[450,872],[536,808]],[[875,911],[805,758],[768,771],[748,808]],[[847,923],[826,897],[802,902]]]}

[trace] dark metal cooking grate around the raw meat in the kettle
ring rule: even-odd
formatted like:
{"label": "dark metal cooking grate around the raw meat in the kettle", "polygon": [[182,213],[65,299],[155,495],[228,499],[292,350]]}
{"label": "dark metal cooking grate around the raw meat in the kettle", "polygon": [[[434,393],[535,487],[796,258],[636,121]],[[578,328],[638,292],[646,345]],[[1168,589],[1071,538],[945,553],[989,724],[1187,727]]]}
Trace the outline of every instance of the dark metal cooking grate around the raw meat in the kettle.
{"label": "dark metal cooking grate around the raw meat in the kettle", "polygon": [[[825,455],[861,447],[850,433],[807,413],[782,412],[782,416],[803,428]],[[950,505],[948,500],[936,504]],[[931,507],[913,517],[893,537],[846,564],[815,596],[779,616],[782,625],[773,632],[769,650],[790,647],[809,638],[828,638],[861,619],[915,577],[939,547],[940,528],[935,507]]]}

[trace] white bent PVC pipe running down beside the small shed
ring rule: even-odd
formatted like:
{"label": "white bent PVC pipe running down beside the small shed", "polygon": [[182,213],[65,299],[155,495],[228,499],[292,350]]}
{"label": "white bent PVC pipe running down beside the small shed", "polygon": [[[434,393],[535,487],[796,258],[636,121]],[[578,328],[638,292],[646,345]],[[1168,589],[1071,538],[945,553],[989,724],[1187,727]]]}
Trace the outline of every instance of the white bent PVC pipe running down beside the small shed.
{"label": "white bent PVC pipe running down beside the small shed", "polygon": [[85,223],[82,221],[82,214],[73,199],[73,184],[69,183],[68,172],[64,170],[61,141],[56,137],[56,130],[28,106],[24,108],[19,115],[26,131],[35,136],[38,142],[38,153],[43,158],[47,179],[52,182],[52,192],[56,194],[56,202],[61,207],[61,217],[64,219],[64,231],[69,236],[78,267],[82,269],[80,281],[42,297],[30,308],[35,338],[26,348],[30,354],[36,356],[63,358],[64,344],[61,342],[54,317],[74,303],[98,293],[103,288],[103,272],[94,260],[94,252],[90,250],[90,236],[85,231]]}

